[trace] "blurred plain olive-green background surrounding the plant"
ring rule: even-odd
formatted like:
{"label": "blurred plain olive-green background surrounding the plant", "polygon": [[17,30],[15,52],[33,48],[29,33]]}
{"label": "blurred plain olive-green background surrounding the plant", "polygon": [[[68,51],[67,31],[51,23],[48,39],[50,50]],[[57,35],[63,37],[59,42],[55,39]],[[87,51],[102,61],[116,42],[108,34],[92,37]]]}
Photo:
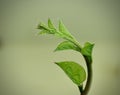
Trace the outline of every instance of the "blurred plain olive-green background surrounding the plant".
{"label": "blurred plain olive-green background surrounding the plant", "polygon": [[120,95],[119,0],[0,0],[0,95],[79,95],[55,61],[73,60],[74,51],[54,53],[62,39],[38,35],[39,22],[62,19],[83,45],[95,43],[89,95]]}

